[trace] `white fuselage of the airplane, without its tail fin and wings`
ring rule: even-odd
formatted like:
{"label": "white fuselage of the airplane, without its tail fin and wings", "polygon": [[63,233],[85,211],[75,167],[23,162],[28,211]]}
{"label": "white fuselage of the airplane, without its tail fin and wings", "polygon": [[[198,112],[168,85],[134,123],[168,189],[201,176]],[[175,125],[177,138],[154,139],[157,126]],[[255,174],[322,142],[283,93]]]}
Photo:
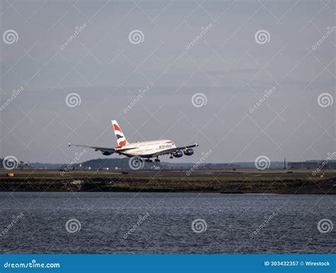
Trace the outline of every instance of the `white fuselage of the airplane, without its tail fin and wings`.
{"label": "white fuselage of the airplane, without its tail fin and wings", "polygon": [[161,152],[163,150],[168,150],[177,147],[172,140],[153,140],[144,141],[139,143],[128,143],[128,145],[123,146],[123,148],[133,148],[121,152],[123,155],[128,157],[150,157],[156,152]]}

